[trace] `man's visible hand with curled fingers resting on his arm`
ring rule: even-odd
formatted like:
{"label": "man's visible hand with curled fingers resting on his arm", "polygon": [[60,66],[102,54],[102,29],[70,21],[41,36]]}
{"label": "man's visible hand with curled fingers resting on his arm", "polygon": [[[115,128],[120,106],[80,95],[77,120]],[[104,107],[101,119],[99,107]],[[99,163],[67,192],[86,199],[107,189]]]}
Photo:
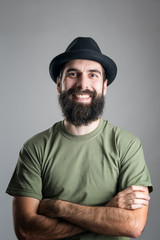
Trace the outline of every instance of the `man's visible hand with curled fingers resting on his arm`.
{"label": "man's visible hand with curled fingers resting on his arm", "polygon": [[106,207],[124,209],[138,209],[149,204],[148,188],[142,186],[130,186],[119,192]]}

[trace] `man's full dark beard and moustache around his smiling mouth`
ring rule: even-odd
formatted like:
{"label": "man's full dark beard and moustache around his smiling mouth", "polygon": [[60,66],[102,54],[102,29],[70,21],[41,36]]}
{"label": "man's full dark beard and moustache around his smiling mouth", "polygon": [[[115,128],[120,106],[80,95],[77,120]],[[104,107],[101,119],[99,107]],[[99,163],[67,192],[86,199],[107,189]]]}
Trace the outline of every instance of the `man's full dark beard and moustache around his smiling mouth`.
{"label": "man's full dark beard and moustache around his smiling mouth", "polygon": [[[87,93],[91,96],[90,104],[77,103],[72,100],[72,94]],[[59,94],[59,104],[65,119],[75,126],[88,125],[102,115],[105,100],[103,92],[100,96],[94,91],[82,91],[79,88],[69,89]]]}

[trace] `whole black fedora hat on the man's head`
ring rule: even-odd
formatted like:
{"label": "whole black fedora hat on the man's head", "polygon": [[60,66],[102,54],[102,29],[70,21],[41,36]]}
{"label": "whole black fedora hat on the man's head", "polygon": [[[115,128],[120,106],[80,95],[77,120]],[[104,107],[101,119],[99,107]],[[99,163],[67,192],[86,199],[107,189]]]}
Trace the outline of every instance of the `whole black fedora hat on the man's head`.
{"label": "whole black fedora hat on the man's head", "polygon": [[73,59],[87,59],[100,63],[108,79],[107,85],[110,85],[116,77],[117,66],[115,62],[101,53],[97,43],[89,37],[78,37],[70,43],[64,53],[52,59],[49,73],[55,83],[64,64]]}

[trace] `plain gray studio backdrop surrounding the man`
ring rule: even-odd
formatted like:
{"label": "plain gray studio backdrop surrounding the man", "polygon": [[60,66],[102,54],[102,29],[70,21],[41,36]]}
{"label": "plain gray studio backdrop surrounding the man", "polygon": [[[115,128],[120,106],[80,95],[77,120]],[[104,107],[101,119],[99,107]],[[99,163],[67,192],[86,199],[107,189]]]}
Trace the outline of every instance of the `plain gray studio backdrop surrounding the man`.
{"label": "plain gray studio backdrop surrounding the man", "polygon": [[139,239],[159,239],[159,14],[159,0],[0,0],[0,239],[16,240],[5,190],[22,144],[62,119],[49,62],[77,36],[118,65],[103,118],[142,141],[154,192]]}

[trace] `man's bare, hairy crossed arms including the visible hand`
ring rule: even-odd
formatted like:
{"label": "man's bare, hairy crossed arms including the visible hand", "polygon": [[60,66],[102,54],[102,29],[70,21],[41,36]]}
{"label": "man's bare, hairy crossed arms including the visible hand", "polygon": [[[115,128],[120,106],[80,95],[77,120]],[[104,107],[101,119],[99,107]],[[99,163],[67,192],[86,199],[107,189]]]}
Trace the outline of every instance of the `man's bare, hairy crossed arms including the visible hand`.
{"label": "man's bare, hairy crossed arms including the visible hand", "polygon": [[15,231],[19,240],[62,239],[87,231],[134,238],[144,229],[148,204],[148,188],[140,186],[118,193],[104,207],[17,196],[13,201]]}

